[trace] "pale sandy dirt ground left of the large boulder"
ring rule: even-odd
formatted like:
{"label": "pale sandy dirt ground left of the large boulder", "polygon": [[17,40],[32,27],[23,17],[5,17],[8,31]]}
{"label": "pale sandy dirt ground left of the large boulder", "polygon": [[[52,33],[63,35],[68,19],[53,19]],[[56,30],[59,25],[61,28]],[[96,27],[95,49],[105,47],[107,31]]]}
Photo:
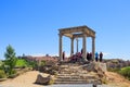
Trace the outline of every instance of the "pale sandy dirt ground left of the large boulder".
{"label": "pale sandy dirt ground left of the large boulder", "polygon": [[[43,87],[42,85],[34,84],[38,74],[39,72],[37,71],[30,71],[13,79],[1,82],[0,85],[2,85],[2,87]],[[48,74],[44,74],[44,76],[47,75]]]}

